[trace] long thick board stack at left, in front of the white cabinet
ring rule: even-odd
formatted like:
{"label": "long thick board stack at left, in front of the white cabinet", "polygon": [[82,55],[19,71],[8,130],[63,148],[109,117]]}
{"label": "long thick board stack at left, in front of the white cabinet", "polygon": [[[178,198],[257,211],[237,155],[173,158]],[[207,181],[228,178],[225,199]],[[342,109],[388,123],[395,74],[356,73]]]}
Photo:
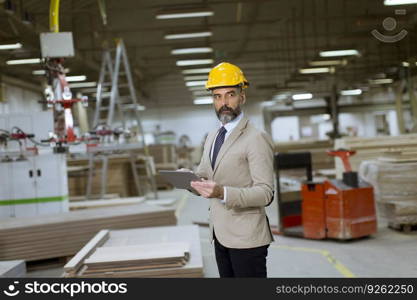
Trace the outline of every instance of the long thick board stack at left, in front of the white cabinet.
{"label": "long thick board stack at left, in front of the white cabinet", "polygon": [[74,255],[102,229],[176,224],[175,210],[126,205],[0,221],[0,260],[40,260]]}

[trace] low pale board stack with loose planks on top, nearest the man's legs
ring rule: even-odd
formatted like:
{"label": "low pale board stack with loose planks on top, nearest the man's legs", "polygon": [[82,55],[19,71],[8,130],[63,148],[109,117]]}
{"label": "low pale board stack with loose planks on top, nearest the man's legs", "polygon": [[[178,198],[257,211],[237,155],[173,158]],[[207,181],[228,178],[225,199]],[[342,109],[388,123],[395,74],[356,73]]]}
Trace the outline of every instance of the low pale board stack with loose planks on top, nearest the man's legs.
{"label": "low pale board stack with loose planks on top, nearest the man's legs", "polygon": [[202,277],[198,226],[102,230],[64,270],[65,277]]}

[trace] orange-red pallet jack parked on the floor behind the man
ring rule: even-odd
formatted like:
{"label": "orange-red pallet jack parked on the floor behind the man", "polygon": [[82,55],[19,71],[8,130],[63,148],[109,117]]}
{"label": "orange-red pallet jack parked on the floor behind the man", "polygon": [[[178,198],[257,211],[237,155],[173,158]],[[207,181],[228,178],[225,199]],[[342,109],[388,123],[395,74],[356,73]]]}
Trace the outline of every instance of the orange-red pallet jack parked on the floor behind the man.
{"label": "orange-red pallet jack parked on the floor behind the man", "polygon": [[[308,154],[303,154],[307,172],[311,170],[308,167]],[[354,155],[355,151],[341,149],[328,151],[328,154],[342,159],[346,170],[343,180],[316,183],[310,180],[311,173],[308,174],[310,176],[307,176],[307,181],[302,185],[300,201],[293,201],[297,203],[297,210],[293,209],[289,213],[287,205],[278,201],[281,233],[309,239],[338,240],[356,239],[376,233],[373,188],[359,180],[357,172],[352,172],[349,163],[349,156]]]}

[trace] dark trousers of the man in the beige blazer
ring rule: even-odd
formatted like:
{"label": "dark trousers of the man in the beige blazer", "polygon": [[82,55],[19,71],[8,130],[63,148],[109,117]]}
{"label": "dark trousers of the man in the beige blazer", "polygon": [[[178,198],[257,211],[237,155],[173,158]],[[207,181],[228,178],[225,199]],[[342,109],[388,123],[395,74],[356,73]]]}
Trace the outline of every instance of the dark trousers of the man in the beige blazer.
{"label": "dark trousers of the man in the beige blazer", "polygon": [[221,278],[261,277],[266,278],[266,257],[269,245],[234,249],[219,243],[214,234],[214,251]]}

